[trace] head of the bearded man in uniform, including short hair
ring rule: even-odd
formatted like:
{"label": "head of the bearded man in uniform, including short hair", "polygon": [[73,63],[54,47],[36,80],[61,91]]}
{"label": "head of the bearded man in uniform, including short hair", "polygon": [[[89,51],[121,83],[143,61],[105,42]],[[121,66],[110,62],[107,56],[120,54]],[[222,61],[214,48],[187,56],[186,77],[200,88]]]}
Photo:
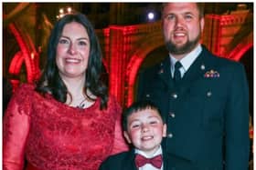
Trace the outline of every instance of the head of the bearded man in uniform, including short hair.
{"label": "head of the bearded man in uniform, including short hair", "polygon": [[198,44],[204,27],[196,3],[169,3],[163,9],[165,44],[172,55],[186,55]]}

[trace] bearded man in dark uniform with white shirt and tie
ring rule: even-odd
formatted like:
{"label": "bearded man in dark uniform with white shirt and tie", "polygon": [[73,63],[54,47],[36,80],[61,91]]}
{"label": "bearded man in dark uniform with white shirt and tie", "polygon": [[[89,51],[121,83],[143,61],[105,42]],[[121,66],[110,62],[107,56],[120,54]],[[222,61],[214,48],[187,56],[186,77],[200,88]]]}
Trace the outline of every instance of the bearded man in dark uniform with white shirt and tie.
{"label": "bearded man in dark uniform with white shirt and tie", "polygon": [[137,98],[153,101],[165,116],[168,165],[246,170],[249,91],[243,66],[200,45],[202,4],[166,3],[162,12],[169,56],[140,75]]}

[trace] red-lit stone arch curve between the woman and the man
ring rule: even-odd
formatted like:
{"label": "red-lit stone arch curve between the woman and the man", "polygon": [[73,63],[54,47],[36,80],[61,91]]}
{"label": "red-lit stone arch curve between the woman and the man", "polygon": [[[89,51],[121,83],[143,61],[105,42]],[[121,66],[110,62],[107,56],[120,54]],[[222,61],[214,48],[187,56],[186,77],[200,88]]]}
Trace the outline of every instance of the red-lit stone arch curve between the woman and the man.
{"label": "red-lit stone arch curve between the woman and the man", "polygon": [[[131,53],[131,59],[127,65],[127,71],[125,73],[126,90],[128,91],[126,105],[131,105],[133,103],[133,86],[144,58],[156,48],[164,45],[163,36],[161,34],[162,33],[155,33],[144,37],[142,41],[138,42],[139,46]],[[144,41],[145,39],[146,41]]]}

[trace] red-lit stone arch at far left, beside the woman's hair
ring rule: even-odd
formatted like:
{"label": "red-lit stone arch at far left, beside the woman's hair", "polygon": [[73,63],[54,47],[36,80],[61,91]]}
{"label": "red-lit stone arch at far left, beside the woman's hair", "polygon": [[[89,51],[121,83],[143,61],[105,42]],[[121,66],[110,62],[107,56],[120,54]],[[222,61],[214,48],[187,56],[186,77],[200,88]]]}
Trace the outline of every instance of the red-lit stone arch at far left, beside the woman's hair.
{"label": "red-lit stone arch at far left, beside the woman's hair", "polygon": [[[16,43],[20,49],[20,51],[17,51],[13,56],[8,67],[8,72],[11,75],[19,75],[22,65],[25,64],[27,70],[27,82],[32,83],[40,75],[39,55],[31,35],[29,35],[26,30],[22,30],[22,26],[18,25],[18,22],[16,22],[16,17],[27,10],[29,6],[30,3],[17,4],[10,13],[4,16],[5,22],[3,23],[5,24],[6,29],[9,29],[11,34],[14,35]],[[11,80],[11,82],[17,81],[18,80]]]}

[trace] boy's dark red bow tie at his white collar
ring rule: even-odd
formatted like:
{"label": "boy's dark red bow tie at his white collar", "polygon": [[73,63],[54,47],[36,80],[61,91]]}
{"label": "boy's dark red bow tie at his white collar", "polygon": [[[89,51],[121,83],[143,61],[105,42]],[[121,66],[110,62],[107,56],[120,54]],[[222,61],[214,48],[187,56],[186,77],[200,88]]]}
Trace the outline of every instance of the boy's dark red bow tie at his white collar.
{"label": "boy's dark red bow tie at his white collar", "polygon": [[156,168],[161,168],[162,163],[162,155],[156,155],[152,158],[146,158],[143,155],[136,155],[135,157],[135,164],[137,167],[142,167],[145,164],[151,164],[154,165]]}

